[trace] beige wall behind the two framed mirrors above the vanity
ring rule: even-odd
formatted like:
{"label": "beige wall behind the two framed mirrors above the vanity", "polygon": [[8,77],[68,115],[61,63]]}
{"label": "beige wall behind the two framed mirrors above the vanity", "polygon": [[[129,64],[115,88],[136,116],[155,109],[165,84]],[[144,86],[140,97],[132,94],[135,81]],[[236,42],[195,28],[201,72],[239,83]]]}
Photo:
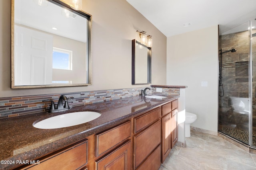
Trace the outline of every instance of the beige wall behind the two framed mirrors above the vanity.
{"label": "beige wall behind the two framed mirrors above the vanity", "polygon": [[153,37],[152,84],[166,84],[166,36],[126,0],[83,1],[92,15],[92,85],[11,89],[11,1],[0,1],[0,97],[144,87],[132,85],[132,39],[146,31]]}

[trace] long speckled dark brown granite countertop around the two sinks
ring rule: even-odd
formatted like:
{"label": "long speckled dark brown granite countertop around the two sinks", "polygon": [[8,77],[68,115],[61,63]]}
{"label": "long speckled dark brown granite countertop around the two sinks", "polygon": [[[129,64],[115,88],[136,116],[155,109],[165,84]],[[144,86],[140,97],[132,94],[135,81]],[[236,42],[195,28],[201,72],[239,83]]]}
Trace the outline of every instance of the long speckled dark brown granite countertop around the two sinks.
{"label": "long speckled dark brown granite countertop around the two sinks", "polygon": [[[0,169],[8,170],[20,166],[16,164],[17,160],[35,160],[178,98],[179,96],[168,96],[163,99],[149,99],[134,96],[73,107],[60,113],[44,112],[0,119],[0,160],[15,161],[15,164],[0,164]],[[32,126],[38,119],[88,110],[99,111],[102,115],[93,121],[71,127],[37,129]]]}

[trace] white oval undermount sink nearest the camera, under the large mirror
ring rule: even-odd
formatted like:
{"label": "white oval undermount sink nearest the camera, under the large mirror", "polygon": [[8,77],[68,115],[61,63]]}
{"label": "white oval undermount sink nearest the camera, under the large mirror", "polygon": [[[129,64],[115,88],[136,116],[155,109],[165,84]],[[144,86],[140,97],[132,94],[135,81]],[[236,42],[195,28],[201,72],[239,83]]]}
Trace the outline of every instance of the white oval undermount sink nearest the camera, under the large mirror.
{"label": "white oval undermount sink nearest the camera, under the large mirror", "polygon": [[37,123],[34,122],[33,126],[38,129],[57,129],[61,127],[70,127],[92,121],[100,117],[100,115],[101,114],[96,111],[78,111],[49,117]]}

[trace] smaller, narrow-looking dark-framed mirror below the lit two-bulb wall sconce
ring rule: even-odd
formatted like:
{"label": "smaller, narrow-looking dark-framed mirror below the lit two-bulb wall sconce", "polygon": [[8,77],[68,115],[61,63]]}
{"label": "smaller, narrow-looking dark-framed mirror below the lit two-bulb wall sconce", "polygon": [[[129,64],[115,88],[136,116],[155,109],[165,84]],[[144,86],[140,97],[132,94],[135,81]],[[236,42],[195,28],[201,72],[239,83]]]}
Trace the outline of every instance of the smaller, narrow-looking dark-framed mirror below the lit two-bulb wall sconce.
{"label": "smaller, narrow-looking dark-framed mirror below the lit two-bulb wall sconce", "polygon": [[132,84],[151,83],[151,48],[132,40]]}

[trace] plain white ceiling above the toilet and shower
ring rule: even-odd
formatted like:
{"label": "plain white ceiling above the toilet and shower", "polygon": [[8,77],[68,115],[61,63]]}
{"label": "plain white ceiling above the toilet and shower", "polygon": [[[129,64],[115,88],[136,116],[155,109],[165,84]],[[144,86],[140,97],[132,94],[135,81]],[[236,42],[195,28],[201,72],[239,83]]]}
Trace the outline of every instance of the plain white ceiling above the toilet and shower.
{"label": "plain white ceiling above the toilet and shower", "polygon": [[[224,33],[256,18],[256,0],[126,1],[166,37],[214,25],[220,25],[220,33]],[[190,23],[190,26],[184,27],[184,23]]]}

